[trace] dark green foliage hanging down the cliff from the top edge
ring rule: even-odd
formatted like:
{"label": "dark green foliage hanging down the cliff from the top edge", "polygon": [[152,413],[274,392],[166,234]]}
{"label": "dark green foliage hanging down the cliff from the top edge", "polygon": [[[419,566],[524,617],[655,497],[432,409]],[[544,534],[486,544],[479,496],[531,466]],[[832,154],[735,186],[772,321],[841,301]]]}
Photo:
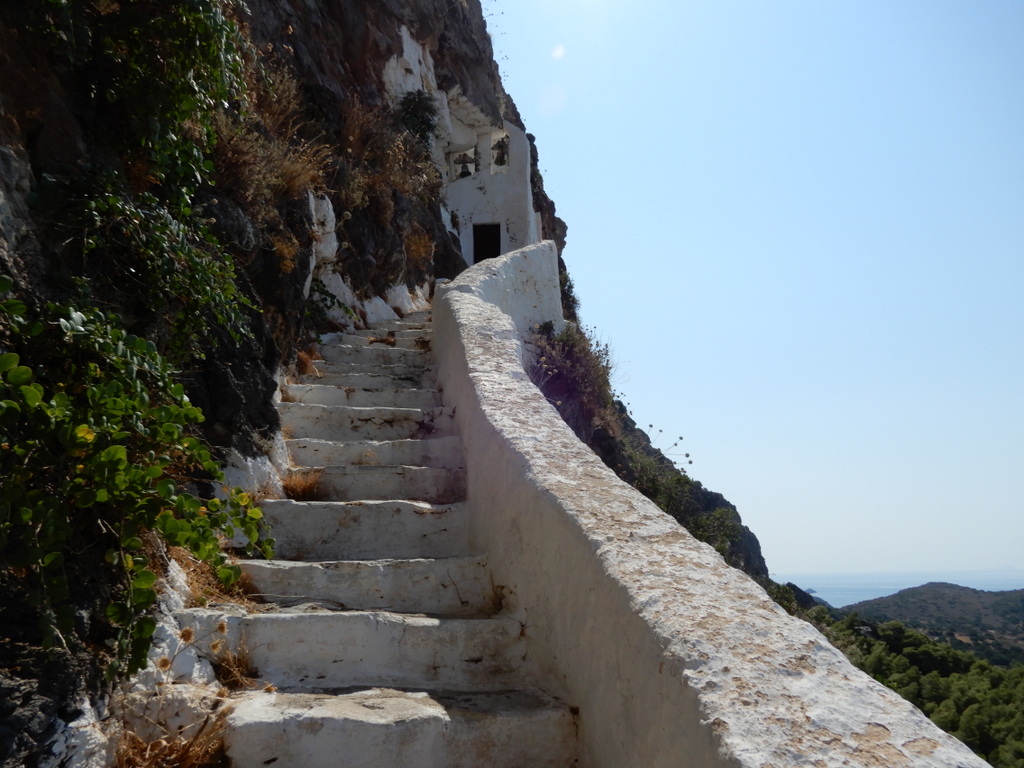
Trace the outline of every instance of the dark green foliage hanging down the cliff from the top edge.
{"label": "dark green foliage hanging down the cliff from the top edge", "polygon": [[[109,156],[48,181],[37,210],[54,222],[73,273],[160,339],[175,362],[210,340],[250,334],[253,304],[199,215],[213,185],[217,117],[246,104],[254,54],[222,0],[37,0],[32,25],[70,60],[69,88],[102,125]],[[165,330],[163,326],[169,329]],[[169,337],[169,338],[168,338]],[[165,346],[163,339],[168,338]]]}

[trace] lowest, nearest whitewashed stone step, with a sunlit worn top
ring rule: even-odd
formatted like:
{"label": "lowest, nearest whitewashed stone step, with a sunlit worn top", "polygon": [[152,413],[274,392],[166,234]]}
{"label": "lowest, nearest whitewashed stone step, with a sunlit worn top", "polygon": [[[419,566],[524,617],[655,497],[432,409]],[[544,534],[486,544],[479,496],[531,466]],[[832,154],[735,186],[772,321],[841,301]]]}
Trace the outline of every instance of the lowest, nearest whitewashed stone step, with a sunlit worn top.
{"label": "lowest, nearest whitewashed stone step, with a sunlit worn top", "polygon": [[225,744],[238,768],[569,768],[573,720],[528,691],[257,692],[237,699]]}

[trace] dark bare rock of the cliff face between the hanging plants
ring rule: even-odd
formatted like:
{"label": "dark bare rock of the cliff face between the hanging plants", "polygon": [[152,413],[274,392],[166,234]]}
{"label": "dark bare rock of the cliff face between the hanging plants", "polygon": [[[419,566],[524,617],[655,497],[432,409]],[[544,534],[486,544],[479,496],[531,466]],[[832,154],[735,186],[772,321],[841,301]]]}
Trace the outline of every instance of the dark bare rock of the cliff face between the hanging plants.
{"label": "dark bare rock of the cliff face between the hanging plants", "polygon": [[[166,334],[167,329],[158,328],[159,321],[144,316],[145,307],[135,305],[137,295],[96,285],[117,284],[114,272],[123,264],[95,257],[94,263],[86,263],[80,244],[68,242],[75,234],[69,230],[78,222],[61,220],[60,195],[67,197],[69,186],[97,174],[130,176],[129,164],[136,159],[128,157],[124,137],[118,135],[124,126],[112,130],[111,123],[119,118],[104,103],[106,94],[95,92],[110,87],[101,81],[103,73],[97,73],[103,62],[96,63],[98,55],[90,58],[82,51],[86,47],[80,39],[82,29],[103,17],[104,4],[81,0],[55,5],[65,5],[61,17],[69,19],[69,28],[55,34],[49,34],[40,14],[28,6],[8,8],[0,16],[0,265],[15,278],[19,294],[37,301],[66,297],[69,282],[84,276],[92,281],[94,294],[103,294],[104,302],[136,321],[146,335]],[[307,180],[339,215],[347,213],[339,227],[344,241],[335,270],[354,296],[386,296],[395,285],[415,288],[465,268],[458,240],[450,232],[451,222],[442,219],[437,183],[408,178],[417,172],[429,175],[429,169],[400,167],[390,157],[370,158],[368,163],[367,157],[352,155],[415,154],[408,152],[408,141],[383,148],[366,145],[374,140],[366,135],[372,133],[367,123],[394,116],[383,73],[390,59],[402,54],[402,28],[432,54],[439,89],[460,93],[496,125],[509,120],[521,126],[502,87],[477,0],[256,0],[225,8],[251,46],[253,70],[273,81],[263,94],[270,111],[289,113],[284,126],[271,125],[265,114],[259,114],[259,105],[253,110],[252,104],[234,103],[226,110],[228,117],[236,124],[253,124],[250,127],[257,133],[286,134],[285,142],[300,151],[293,155],[301,156],[310,147],[321,153],[321,168],[314,169],[317,173],[310,171]],[[157,3],[145,12],[164,11]],[[89,45],[97,47],[94,40]],[[252,95],[250,99],[255,100]],[[250,114],[239,120],[239,113],[247,110]],[[237,131],[239,125],[231,128]],[[268,408],[273,386],[267,372],[275,373],[279,364],[293,360],[297,345],[314,330],[306,315],[307,284],[316,266],[311,240],[315,226],[302,179],[269,201],[254,201],[258,190],[250,188],[253,183],[245,178],[247,173],[275,172],[272,167],[251,166],[282,161],[287,165],[301,157],[259,157],[269,153],[253,145],[251,136],[240,139],[224,130],[219,133],[218,148],[207,147],[218,168],[208,183],[200,185],[194,203],[204,206],[212,219],[219,244],[234,260],[241,291],[259,311],[250,313],[252,340],[221,345],[216,359],[207,355],[205,361],[190,366],[187,383],[189,394],[214,417],[207,425],[208,438],[252,454],[276,428]],[[231,139],[240,146],[228,145]],[[232,161],[246,167],[220,167]],[[369,173],[356,167],[360,162],[372,166]],[[290,170],[303,169],[286,167],[278,172]],[[371,176],[369,183],[356,178],[360,171]],[[362,188],[351,188],[353,178]],[[547,234],[564,243],[564,224],[554,215],[539,177],[534,194],[537,207],[546,212]],[[417,243],[429,244],[426,254],[423,246],[414,247]]]}

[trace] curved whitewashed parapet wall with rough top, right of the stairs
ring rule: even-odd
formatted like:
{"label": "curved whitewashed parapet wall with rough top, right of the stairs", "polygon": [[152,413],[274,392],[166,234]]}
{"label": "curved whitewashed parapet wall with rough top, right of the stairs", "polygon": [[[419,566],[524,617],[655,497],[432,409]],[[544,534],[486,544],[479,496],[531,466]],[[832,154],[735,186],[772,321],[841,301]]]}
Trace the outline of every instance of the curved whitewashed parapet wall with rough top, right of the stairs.
{"label": "curved whitewashed parapet wall with rough top, right of the stairs", "polygon": [[916,708],[622,482],[530,383],[560,322],[550,243],[438,290],[473,537],[524,617],[542,684],[580,709],[582,765],[982,768]]}

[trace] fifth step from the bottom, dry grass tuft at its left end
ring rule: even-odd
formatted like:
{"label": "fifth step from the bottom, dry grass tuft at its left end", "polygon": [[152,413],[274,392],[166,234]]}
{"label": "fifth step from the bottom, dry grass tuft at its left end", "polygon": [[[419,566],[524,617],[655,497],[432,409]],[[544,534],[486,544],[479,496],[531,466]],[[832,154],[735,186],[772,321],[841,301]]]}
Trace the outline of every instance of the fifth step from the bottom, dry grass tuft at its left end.
{"label": "fifth step from the bottom, dry grass tuft at its left end", "polygon": [[315,498],[335,502],[403,499],[454,504],[466,498],[466,470],[406,466],[331,466],[303,468],[292,476],[313,475]]}

